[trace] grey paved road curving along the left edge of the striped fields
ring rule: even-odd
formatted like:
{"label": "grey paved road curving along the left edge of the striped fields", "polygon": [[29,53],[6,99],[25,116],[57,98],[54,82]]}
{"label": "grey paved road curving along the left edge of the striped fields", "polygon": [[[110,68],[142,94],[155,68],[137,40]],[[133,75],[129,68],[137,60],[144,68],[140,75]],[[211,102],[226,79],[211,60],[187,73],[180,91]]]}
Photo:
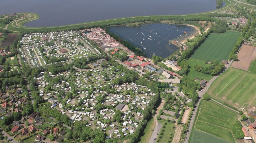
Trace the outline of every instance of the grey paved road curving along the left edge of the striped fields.
{"label": "grey paved road curving along the left edge of the striped fields", "polygon": [[[232,64],[233,60],[230,60],[229,64],[226,66],[226,69],[228,69],[230,67],[230,65]],[[207,92],[207,90],[209,89],[209,87],[211,86],[211,84],[215,81],[215,79],[219,77],[219,75],[217,76],[214,76],[207,84],[207,86],[203,89],[202,92],[199,92],[198,95],[199,95],[199,100],[196,104],[196,107],[194,108],[194,111],[193,111],[193,114],[192,114],[192,118],[191,118],[191,121],[190,121],[190,125],[188,127],[188,130],[187,130],[187,135],[186,135],[186,138],[185,138],[185,141],[184,143],[188,143],[188,139],[189,139],[189,136],[190,136],[190,133],[191,133],[191,130],[192,130],[192,127],[193,127],[193,124],[194,124],[194,121],[195,121],[195,118],[196,118],[196,112],[197,112],[197,109],[198,109],[198,105],[200,103],[200,101],[202,100],[202,96],[205,92]]]}

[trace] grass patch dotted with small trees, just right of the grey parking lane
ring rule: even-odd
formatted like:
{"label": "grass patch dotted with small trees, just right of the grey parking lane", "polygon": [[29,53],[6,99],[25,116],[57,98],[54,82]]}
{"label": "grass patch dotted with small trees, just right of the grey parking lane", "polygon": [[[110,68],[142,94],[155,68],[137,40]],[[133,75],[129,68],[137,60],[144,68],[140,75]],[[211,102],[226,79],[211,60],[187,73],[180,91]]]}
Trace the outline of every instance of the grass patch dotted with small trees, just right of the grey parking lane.
{"label": "grass patch dotted with small trees, just right of the grey parking lane", "polygon": [[[170,123],[167,121],[158,120],[160,124],[162,124],[161,131],[159,132],[158,138],[159,143],[167,143],[168,141],[172,141],[174,133],[175,133],[175,125],[174,123]],[[164,130],[164,131],[162,131]],[[161,138],[159,138],[161,136]],[[171,139],[170,139],[171,137]]]}

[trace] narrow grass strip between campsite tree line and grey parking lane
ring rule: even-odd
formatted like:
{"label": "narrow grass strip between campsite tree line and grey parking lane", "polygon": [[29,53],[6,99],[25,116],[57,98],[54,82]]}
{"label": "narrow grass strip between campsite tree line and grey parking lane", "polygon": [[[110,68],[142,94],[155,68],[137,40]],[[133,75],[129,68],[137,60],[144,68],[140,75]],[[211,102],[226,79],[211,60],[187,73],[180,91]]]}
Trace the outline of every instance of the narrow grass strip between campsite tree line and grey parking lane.
{"label": "narrow grass strip between campsite tree line and grey parking lane", "polygon": [[151,134],[152,134],[152,130],[155,128],[156,126],[156,122],[154,121],[154,119],[152,118],[148,123],[147,126],[143,132],[143,136],[141,136],[140,138],[140,142],[139,143],[148,143]]}

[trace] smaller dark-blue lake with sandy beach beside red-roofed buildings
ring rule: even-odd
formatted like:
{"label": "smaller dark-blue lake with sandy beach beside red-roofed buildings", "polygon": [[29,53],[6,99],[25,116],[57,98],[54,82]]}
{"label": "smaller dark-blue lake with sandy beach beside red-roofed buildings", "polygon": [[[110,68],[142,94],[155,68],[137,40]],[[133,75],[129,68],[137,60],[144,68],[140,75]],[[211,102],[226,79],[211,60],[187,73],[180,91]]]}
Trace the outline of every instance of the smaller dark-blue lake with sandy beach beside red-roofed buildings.
{"label": "smaller dark-blue lake with sandy beach beside red-roofed buildings", "polygon": [[[147,23],[142,26],[111,26],[109,30],[139,47],[146,53],[146,57],[150,58],[153,55],[163,58],[170,56],[178,48],[169,40],[181,41],[198,33],[197,29],[187,25],[164,23]],[[187,35],[184,34],[184,31],[187,32]]]}

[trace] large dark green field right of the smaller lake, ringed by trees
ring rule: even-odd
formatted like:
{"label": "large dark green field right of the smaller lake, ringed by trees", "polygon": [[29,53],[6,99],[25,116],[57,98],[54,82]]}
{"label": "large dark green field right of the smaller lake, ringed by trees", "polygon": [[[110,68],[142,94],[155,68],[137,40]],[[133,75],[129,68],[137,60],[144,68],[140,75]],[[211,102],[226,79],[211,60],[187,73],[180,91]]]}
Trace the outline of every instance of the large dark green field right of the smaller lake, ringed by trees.
{"label": "large dark green field right of the smaller lake, ringed by trees", "polygon": [[227,60],[240,34],[240,32],[235,31],[210,34],[191,57],[202,61]]}

